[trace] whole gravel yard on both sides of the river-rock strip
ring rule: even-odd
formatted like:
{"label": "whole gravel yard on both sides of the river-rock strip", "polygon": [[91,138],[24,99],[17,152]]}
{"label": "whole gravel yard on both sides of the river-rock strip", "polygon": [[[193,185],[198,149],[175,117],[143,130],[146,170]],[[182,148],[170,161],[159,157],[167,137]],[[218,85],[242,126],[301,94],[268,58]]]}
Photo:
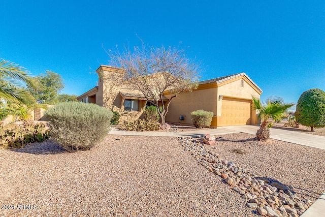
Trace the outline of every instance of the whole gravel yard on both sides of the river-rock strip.
{"label": "whole gravel yard on both sides of the river-rock strip", "polygon": [[[314,201],[325,191],[325,150],[259,142],[248,134],[224,135],[209,148],[256,175],[281,181],[300,197]],[[231,152],[235,148],[246,153]],[[0,201],[14,208],[2,209],[4,216],[256,215],[177,138],[109,135],[101,145],[74,153],[47,140],[0,150],[0,165]]]}

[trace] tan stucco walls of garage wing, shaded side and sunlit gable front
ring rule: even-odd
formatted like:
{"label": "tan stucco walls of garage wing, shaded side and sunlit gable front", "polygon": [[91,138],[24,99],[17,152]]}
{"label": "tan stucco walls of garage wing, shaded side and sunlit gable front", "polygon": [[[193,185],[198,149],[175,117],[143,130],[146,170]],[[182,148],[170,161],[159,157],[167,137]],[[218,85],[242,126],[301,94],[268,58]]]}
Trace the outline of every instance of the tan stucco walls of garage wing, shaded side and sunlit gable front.
{"label": "tan stucco walls of garage wing, shaded side and sunlit gable front", "polygon": [[[243,80],[243,86],[241,86],[241,80]],[[261,92],[244,76],[219,83],[218,87],[216,83],[201,84],[197,90],[184,92],[172,100],[166,121],[192,125],[190,112],[203,109],[212,111],[216,115],[211,123],[211,127],[216,127],[218,117],[222,115],[222,100],[219,100],[219,95],[251,100],[252,96],[260,96]],[[169,98],[170,95],[166,97]],[[179,120],[180,115],[184,115],[184,120]],[[256,123],[256,111],[252,110],[251,124]]]}

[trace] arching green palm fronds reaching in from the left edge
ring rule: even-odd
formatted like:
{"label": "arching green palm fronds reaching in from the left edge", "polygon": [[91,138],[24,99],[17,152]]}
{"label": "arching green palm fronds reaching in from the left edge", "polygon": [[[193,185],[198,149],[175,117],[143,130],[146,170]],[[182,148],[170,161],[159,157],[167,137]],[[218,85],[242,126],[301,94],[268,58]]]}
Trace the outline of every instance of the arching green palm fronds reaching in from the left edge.
{"label": "arching green palm fronds reaching in from the left edge", "polygon": [[39,82],[23,67],[0,59],[0,99],[25,105],[36,104],[29,91],[23,89],[25,84],[35,88],[39,86]]}

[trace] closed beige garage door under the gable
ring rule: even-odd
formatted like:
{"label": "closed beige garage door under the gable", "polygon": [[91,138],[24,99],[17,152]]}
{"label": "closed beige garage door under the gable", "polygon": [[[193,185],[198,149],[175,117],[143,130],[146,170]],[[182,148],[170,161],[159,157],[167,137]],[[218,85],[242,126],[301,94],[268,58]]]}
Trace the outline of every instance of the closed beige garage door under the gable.
{"label": "closed beige garage door under the gable", "polygon": [[251,102],[249,100],[222,99],[222,111],[219,126],[250,125]]}

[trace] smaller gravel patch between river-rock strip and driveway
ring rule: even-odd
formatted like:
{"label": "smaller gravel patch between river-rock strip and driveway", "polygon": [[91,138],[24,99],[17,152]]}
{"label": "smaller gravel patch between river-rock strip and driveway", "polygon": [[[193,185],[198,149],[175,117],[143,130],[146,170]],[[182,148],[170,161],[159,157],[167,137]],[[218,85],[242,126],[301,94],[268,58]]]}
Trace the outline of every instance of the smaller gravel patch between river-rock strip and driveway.
{"label": "smaller gravel patch between river-rock strip and driveway", "polygon": [[258,176],[282,182],[312,202],[325,192],[325,150],[274,139],[262,142],[244,133],[222,135],[210,149]]}

